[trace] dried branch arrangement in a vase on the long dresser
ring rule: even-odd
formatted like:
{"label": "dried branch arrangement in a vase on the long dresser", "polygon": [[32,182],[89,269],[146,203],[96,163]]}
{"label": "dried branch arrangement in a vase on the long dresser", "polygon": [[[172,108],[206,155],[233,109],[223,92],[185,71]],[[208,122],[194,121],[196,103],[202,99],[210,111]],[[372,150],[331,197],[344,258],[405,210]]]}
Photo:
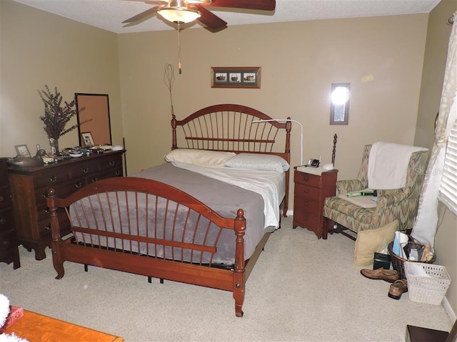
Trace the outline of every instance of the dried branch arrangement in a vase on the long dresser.
{"label": "dried branch arrangement in a vase on the long dresser", "polygon": [[[59,152],[59,138],[61,135],[69,133],[78,127],[78,124],[76,124],[65,129],[66,124],[78,113],[78,109],[76,109],[76,100],[71,102],[63,100],[62,95],[57,91],[57,87],[54,88],[54,93],[51,93],[49,86],[45,85],[44,88],[45,90],[38,90],[44,103],[44,115],[41,115],[40,119],[44,123],[44,130],[49,138],[51,153],[55,155]],[[83,110],[84,108],[79,108],[79,112]]]}

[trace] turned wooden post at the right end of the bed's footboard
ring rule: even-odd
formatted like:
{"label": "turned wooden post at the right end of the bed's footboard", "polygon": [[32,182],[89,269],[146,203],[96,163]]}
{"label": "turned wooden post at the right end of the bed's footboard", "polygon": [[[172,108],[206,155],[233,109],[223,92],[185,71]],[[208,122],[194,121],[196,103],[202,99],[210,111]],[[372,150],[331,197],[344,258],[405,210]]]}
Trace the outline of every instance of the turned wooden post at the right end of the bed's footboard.
{"label": "turned wooden post at the right end of the bed's footboard", "polygon": [[235,299],[235,314],[243,317],[244,301],[244,234],[246,232],[246,219],[243,209],[238,209],[235,219],[236,249],[235,270],[233,271],[233,299]]}

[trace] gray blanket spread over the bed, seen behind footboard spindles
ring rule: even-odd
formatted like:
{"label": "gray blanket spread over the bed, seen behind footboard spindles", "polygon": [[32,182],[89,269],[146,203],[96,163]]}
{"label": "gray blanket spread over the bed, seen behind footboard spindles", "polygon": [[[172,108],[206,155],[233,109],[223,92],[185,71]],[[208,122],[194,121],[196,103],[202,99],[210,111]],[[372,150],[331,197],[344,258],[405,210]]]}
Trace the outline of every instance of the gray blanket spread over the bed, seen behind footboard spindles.
{"label": "gray blanket spread over the bed, seen behind footboard spindles", "polygon": [[[204,175],[200,175],[199,173],[192,172],[189,170],[181,169],[179,167],[175,167],[172,165],[170,162],[167,162],[163,165],[159,165],[156,167],[151,167],[148,170],[144,170],[143,172],[136,173],[134,175],[131,175],[131,177],[143,177],[151,180],[156,180],[159,182],[166,183],[168,185],[171,185],[173,187],[176,187],[180,190],[183,190],[184,192],[188,193],[189,195],[192,195],[196,199],[199,199],[201,202],[204,202],[206,205],[208,205],[211,209],[214,210],[214,212],[217,212],[219,215],[222,217],[228,217],[228,218],[235,218],[236,217],[236,212],[239,208],[243,209],[244,211],[244,216],[246,217],[246,234],[244,237],[245,240],[245,247],[244,247],[244,257],[245,259],[249,259],[251,255],[253,254],[254,250],[256,249],[256,246],[258,242],[260,242],[261,238],[263,237],[266,232],[268,232],[268,229],[264,229],[264,214],[263,214],[263,198],[261,195],[258,195],[256,192],[251,192],[249,190],[244,190],[241,187],[237,187],[236,185],[230,185],[225,182],[221,182],[219,180],[214,180],[210,177],[206,177]],[[95,224],[95,222],[104,222],[106,219],[106,214],[103,214],[103,210],[106,212],[111,213],[111,217],[119,217],[121,221],[125,221],[123,224],[119,224],[118,222],[113,222],[111,224],[111,227],[109,227],[109,230],[114,230],[116,232],[121,231],[121,226],[123,227],[136,227],[136,217],[133,214],[134,212],[136,213],[136,210],[130,210],[127,212],[130,212],[130,214],[125,214],[126,210],[123,208],[128,207],[132,203],[136,203],[138,201],[138,198],[135,198],[134,193],[129,193],[128,196],[125,198],[121,198],[120,200],[123,201],[121,206],[116,206],[109,204],[108,202],[115,203],[119,198],[116,197],[114,194],[109,195],[110,199],[109,201],[107,199],[102,199],[102,204],[101,207],[105,207],[105,209],[101,209],[99,212],[96,214],[96,218],[94,219],[93,217],[89,217],[89,222],[86,222],[86,218],[84,218],[84,215],[78,214],[81,212],[84,212],[81,210],[81,207],[79,205],[76,205],[73,209],[71,209],[70,214],[71,214],[71,219],[74,222],[78,222],[78,225],[81,227],[88,227],[89,224],[91,227]],[[151,208],[155,207],[155,199],[154,197],[150,196],[148,199],[149,205]],[[94,201],[95,202],[95,199]],[[85,200],[84,205],[92,206],[93,204],[89,204],[89,200]],[[140,205],[146,205],[146,198],[141,199],[139,202]],[[174,214],[174,208],[171,207],[166,207],[166,204],[159,203],[159,207],[161,208],[161,216],[162,217],[169,217],[168,221],[173,222],[172,219],[172,214]],[[164,215],[164,213],[167,211],[169,213],[167,215]],[[130,215],[129,217],[127,217]],[[81,219],[82,217],[82,219]],[[149,214],[149,217],[154,217],[154,214],[151,213]],[[185,219],[185,213],[181,215],[181,219],[184,221]],[[190,217],[190,219],[196,219],[195,217]],[[128,224],[126,223],[128,221]],[[140,219],[138,219],[140,221]],[[199,228],[197,229],[197,236],[201,234],[201,237],[198,237],[198,239],[206,239],[206,241],[211,241],[216,239],[216,237],[205,237],[203,233],[199,232],[200,227],[205,227],[207,222],[204,222],[202,220],[199,223]],[[178,224],[179,226],[179,224]],[[144,224],[138,224],[138,229],[139,232],[138,234],[141,236],[154,236],[153,232],[146,233],[145,232],[145,227]],[[149,227],[154,227],[154,224],[151,222]],[[273,230],[273,229],[271,229]],[[202,230],[203,232],[203,230]],[[157,234],[157,232],[156,232]],[[159,234],[161,234],[159,232]],[[179,236],[181,232],[178,232],[176,235]],[[193,232],[186,231],[185,235],[186,237],[191,237],[193,236]],[[170,258],[172,253],[174,251],[171,250],[171,247],[166,247],[163,249],[162,247],[154,247],[154,248],[149,248],[146,246],[144,243],[131,243],[131,242],[126,242],[123,241],[114,241],[112,238],[101,238],[99,239],[97,237],[94,237],[94,235],[91,235],[91,237],[88,237],[89,234],[84,234],[86,236],[86,242],[89,240],[91,244],[99,244],[102,246],[107,246],[107,247],[113,247],[113,248],[122,248],[126,250],[130,250],[131,252],[140,252],[142,254],[149,254],[152,256],[156,257],[164,257],[164,258]],[[81,241],[83,236],[82,234],[76,234],[76,238]],[[167,239],[171,237],[166,237]],[[197,240],[198,240],[197,239]],[[219,237],[219,242],[216,246],[216,254],[214,254],[214,257],[212,260],[210,260],[210,253],[204,252],[201,254],[201,258],[199,257],[199,261],[201,261],[203,264],[209,264],[210,262],[213,264],[225,264],[225,265],[232,265],[234,264],[235,260],[235,233],[229,229],[223,229],[223,232],[221,234],[221,237]],[[120,240],[120,239],[116,239]],[[215,240],[214,240],[215,241]],[[182,259],[184,261],[190,261],[191,258],[194,258],[192,260],[196,260],[195,253],[200,253],[200,252],[193,252],[193,256],[191,257],[191,252],[187,251],[184,253],[182,256]],[[181,259],[180,252],[179,253],[174,253],[172,259],[179,260]]]}

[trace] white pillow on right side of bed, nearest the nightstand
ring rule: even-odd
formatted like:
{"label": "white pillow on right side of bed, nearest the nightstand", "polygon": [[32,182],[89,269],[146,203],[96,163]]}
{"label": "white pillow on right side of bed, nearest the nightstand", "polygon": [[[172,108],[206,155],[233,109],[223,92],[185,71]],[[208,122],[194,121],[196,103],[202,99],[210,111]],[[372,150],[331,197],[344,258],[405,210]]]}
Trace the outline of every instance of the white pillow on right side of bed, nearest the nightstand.
{"label": "white pillow on right side of bed, nearest the nightstand", "polygon": [[283,172],[289,168],[288,162],[278,155],[262,153],[240,153],[226,161],[227,167],[263,171]]}

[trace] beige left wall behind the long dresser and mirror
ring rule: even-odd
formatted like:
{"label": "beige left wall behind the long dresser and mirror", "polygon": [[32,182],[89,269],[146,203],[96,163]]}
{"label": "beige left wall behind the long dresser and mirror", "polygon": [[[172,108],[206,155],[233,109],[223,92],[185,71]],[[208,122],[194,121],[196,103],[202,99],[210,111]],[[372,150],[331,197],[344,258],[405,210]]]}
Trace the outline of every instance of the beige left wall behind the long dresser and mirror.
{"label": "beige left wall behind the long dresser and mirror", "polygon": [[[45,84],[56,86],[67,101],[74,93],[109,94],[113,141],[121,144],[117,35],[9,0],[0,1],[0,13],[0,155],[16,155],[14,145],[21,144],[32,154],[36,144],[49,150],[37,92]],[[74,147],[78,141],[73,130],[59,145]]]}

